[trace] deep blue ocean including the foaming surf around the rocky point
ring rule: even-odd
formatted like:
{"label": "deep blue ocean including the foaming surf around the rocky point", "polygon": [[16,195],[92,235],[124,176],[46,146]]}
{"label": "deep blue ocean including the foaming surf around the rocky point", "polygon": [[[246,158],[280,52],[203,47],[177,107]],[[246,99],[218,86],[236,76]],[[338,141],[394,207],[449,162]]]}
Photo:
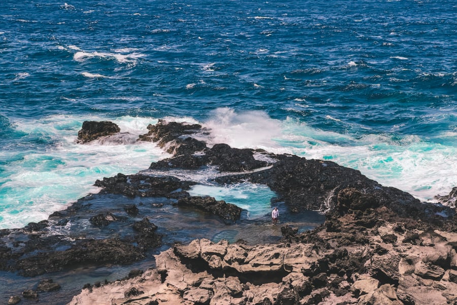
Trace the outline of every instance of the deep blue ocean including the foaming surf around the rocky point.
{"label": "deep blue ocean including the foaming surf around the rocky point", "polygon": [[[456,16],[451,0],[3,0],[0,228],[168,157],[135,142],[159,118],[201,123],[211,143],[332,160],[421,200],[448,194]],[[133,136],[76,144],[84,120]],[[258,191],[202,190],[247,209]]]}

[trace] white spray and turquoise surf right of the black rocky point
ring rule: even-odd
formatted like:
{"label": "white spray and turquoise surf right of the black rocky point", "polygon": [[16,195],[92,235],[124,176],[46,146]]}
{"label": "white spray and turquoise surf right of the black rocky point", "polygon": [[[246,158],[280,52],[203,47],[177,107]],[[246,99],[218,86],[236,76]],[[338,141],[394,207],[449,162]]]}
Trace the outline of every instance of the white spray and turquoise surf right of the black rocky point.
{"label": "white spray and turquoise surf right of the black rocky point", "polygon": [[341,134],[297,119],[279,121],[264,112],[237,113],[230,108],[214,111],[204,126],[211,131],[212,144],[330,160],[420,200],[448,194],[457,185],[457,148],[448,134],[435,139],[395,133]]}

